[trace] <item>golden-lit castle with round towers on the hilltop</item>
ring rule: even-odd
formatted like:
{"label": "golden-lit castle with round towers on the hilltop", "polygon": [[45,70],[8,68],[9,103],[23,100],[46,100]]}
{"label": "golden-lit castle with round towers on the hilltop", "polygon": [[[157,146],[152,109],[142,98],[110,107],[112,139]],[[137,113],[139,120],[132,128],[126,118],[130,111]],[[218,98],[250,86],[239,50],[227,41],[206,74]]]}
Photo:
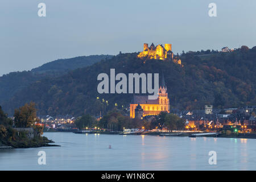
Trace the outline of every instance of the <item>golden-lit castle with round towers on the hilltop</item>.
{"label": "golden-lit castle with round towers on the hilltop", "polygon": [[143,51],[140,52],[137,57],[146,57],[147,59],[160,60],[170,59],[174,61],[174,63],[181,65],[181,60],[177,59],[177,57],[174,58],[174,53],[172,52],[172,44],[164,44],[164,47],[162,46],[162,44],[159,44],[155,47],[155,45],[152,43],[151,46],[148,47],[148,44],[144,43]]}

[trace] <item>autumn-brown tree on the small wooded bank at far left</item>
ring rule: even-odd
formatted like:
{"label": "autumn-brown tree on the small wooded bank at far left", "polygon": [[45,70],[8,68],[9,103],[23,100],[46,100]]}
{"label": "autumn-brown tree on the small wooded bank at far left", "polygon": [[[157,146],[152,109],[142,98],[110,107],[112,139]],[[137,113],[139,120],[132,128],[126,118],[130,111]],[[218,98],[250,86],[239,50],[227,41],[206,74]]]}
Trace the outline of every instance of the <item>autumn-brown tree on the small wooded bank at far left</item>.
{"label": "autumn-brown tree on the small wooded bank at far left", "polygon": [[25,104],[14,111],[14,124],[16,127],[31,127],[36,122],[35,103]]}

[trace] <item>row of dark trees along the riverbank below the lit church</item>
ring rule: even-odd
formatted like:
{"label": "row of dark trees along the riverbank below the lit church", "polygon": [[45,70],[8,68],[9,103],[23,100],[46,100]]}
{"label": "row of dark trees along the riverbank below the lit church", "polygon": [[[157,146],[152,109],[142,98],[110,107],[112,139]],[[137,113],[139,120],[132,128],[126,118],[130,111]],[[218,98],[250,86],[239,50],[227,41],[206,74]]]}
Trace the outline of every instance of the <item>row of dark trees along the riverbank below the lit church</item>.
{"label": "row of dark trees along the riverbank below the lit church", "polygon": [[107,129],[109,131],[122,131],[123,129],[159,129],[163,127],[172,130],[183,130],[185,126],[185,120],[179,118],[175,114],[160,113],[158,116],[152,119],[132,119],[125,115],[122,110],[111,110],[108,114],[104,115],[97,121],[96,118],[89,114],[82,115],[75,121],[75,125],[78,129]]}

